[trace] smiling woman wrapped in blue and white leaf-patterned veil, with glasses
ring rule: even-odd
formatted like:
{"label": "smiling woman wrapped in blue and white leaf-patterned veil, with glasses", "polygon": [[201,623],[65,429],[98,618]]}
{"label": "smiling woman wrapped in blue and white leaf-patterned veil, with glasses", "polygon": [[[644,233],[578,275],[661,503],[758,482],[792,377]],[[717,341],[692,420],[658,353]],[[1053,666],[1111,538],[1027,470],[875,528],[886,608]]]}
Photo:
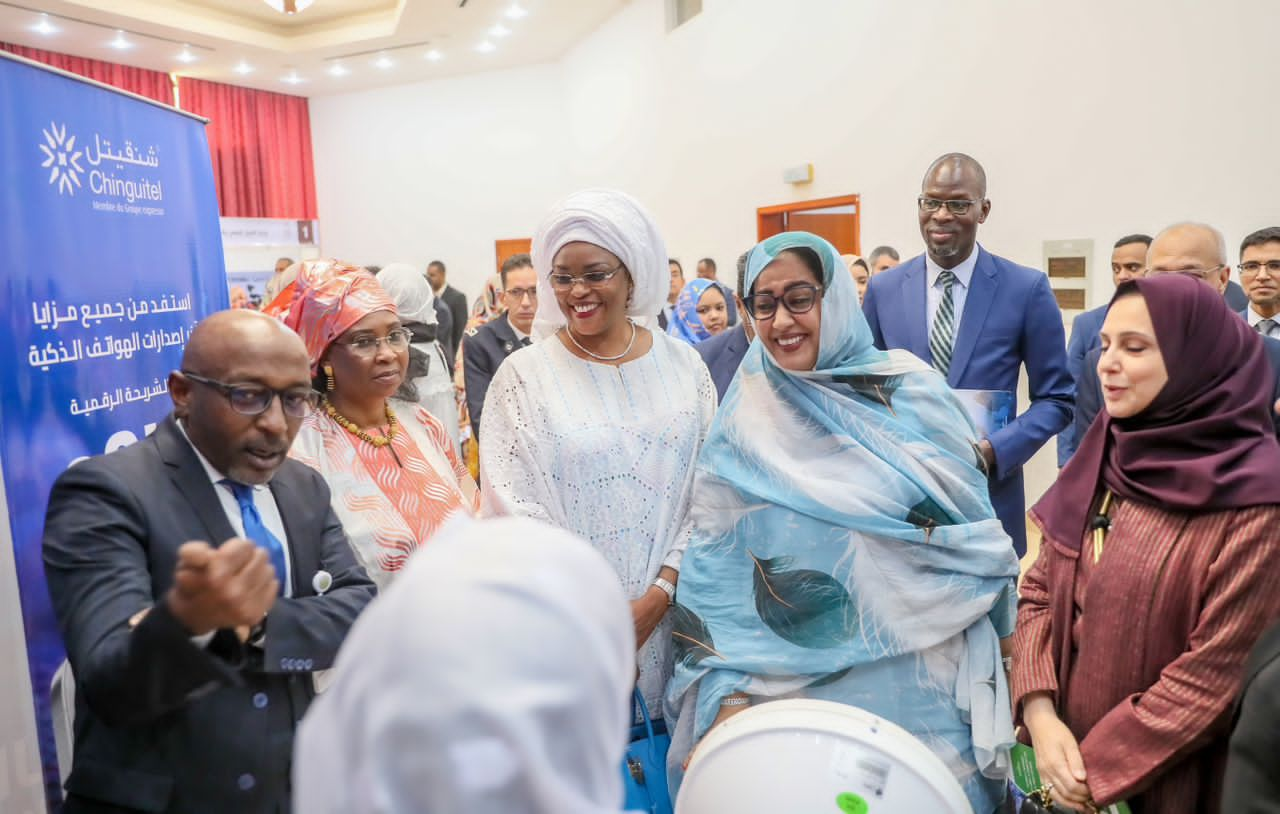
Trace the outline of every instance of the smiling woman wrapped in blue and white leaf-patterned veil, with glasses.
{"label": "smiling woman wrapped in blue and white leaf-patterned veil, with glasses", "polygon": [[746,292],[756,339],[698,458],[673,613],[672,779],[733,713],[817,698],[906,728],[989,814],[1018,559],[973,421],[932,367],[874,348],[822,238],[755,246]]}

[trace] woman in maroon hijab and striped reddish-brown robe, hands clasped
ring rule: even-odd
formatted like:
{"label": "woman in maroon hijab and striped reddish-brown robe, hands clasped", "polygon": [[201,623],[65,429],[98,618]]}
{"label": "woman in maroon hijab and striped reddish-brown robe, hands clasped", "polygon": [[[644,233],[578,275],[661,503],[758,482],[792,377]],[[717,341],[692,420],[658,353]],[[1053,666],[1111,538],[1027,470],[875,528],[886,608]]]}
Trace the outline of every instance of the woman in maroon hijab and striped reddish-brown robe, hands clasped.
{"label": "woman in maroon hijab and striped reddish-brown robe, hands clasped", "polygon": [[1012,696],[1055,802],[1219,810],[1230,710],[1280,617],[1280,445],[1262,340],[1217,292],[1125,283],[1106,410],[1032,508]]}

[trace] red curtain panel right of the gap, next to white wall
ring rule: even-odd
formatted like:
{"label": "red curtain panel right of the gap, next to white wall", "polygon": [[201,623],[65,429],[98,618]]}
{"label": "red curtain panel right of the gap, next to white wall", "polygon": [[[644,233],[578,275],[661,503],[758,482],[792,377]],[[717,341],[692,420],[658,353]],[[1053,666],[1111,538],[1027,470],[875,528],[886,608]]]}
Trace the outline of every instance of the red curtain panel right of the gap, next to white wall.
{"label": "red curtain panel right of the gap, next to white wall", "polygon": [[301,96],[182,77],[183,110],[209,119],[225,218],[316,218],[311,115]]}

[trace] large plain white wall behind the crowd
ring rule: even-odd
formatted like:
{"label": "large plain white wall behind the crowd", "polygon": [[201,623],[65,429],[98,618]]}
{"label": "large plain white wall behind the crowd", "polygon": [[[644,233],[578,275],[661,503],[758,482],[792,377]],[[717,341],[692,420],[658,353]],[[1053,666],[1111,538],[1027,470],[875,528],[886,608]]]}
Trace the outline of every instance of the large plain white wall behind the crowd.
{"label": "large plain white wall behind the crowd", "polygon": [[[364,262],[451,262],[479,292],[493,241],[530,235],[585,186],[636,195],[686,267],[721,276],[755,209],[860,193],[863,246],[919,252],[925,166],[987,168],[992,251],[1039,265],[1046,239],[1110,246],[1174,220],[1231,246],[1280,223],[1274,0],[705,0],[664,31],[632,0],[553,65],[312,99],[320,234]],[[815,179],[781,180],[812,161]],[[1052,445],[1029,467],[1034,497]]]}

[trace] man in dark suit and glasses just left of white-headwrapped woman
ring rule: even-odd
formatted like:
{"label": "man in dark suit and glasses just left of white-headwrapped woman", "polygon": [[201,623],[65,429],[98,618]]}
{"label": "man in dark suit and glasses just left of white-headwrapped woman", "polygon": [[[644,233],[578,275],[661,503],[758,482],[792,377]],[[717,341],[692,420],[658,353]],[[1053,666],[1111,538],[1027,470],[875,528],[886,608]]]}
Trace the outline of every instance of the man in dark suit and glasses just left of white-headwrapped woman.
{"label": "man in dark suit and glasses just left of white-headwrapped woman", "polygon": [[538,314],[538,273],[529,255],[513,255],[502,264],[502,299],[506,312],[472,329],[462,343],[462,376],[467,389],[471,431],[480,438],[480,415],[489,383],[503,360],[530,344]]}

